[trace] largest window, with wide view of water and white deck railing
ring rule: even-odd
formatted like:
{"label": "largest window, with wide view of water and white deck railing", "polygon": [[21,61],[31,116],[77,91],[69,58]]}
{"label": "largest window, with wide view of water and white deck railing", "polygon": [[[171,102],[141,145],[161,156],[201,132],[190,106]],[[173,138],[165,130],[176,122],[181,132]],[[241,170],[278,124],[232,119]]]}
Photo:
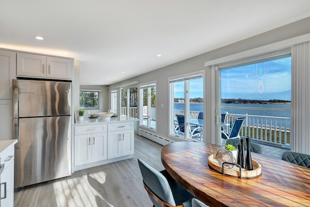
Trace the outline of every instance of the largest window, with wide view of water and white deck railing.
{"label": "largest window, with wide view of water and white deck railing", "polygon": [[291,128],[291,53],[286,49],[262,56],[229,66],[218,66],[219,111],[228,113],[219,130],[229,134],[233,121],[237,117],[246,117],[240,131],[241,137],[288,146]]}

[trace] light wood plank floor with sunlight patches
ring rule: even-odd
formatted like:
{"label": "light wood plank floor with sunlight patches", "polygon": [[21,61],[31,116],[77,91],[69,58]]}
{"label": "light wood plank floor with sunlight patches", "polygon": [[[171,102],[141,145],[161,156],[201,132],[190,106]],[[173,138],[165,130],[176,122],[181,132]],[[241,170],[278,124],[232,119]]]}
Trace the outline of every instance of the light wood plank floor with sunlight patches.
{"label": "light wood plank floor with sunlight patches", "polygon": [[162,146],[135,135],[135,154],[127,159],[76,171],[14,192],[15,207],[152,207],[142,183],[138,158],[164,169]]}

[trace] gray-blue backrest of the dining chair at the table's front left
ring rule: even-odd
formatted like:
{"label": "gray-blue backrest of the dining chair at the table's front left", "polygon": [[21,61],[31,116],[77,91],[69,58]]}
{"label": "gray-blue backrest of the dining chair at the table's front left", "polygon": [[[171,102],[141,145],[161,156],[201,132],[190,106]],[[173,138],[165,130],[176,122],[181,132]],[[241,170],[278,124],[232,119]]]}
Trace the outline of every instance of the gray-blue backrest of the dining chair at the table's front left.
{"label": "gray-blue backrest of the dining chair at the table's front left", "polygon": [[[164,202],[175,206],[175,201],[169,183],[164,175],[159,173],[142,159],[138,159],[141,175],[145,185]],[[149,194],[152,202],[154,198]],[[154,203],[155,204],[155,203]],[[156,205],[157,206],[157,205]]]}

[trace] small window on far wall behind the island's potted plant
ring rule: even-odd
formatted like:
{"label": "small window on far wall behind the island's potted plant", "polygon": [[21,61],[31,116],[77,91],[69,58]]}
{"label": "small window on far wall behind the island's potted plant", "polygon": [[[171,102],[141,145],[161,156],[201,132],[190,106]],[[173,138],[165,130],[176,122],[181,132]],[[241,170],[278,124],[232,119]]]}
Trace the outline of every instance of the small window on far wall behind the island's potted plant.
{"label": "small window on far wall behind the island's potted plant", "polygon": [[84,110],[100,109],[99,93],[99,90],[80,90],[79,108]]}

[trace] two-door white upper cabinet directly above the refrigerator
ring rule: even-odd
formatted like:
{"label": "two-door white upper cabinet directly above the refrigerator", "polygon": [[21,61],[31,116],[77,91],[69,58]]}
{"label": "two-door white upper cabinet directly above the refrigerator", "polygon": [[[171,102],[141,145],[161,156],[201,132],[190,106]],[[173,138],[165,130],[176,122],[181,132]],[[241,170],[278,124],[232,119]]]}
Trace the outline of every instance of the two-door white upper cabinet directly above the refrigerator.
{"label": "two-door white upper cabinet directly above the refrigerator", "polygon": [[17,76],[72,79],[72,59],[17,52]]}

